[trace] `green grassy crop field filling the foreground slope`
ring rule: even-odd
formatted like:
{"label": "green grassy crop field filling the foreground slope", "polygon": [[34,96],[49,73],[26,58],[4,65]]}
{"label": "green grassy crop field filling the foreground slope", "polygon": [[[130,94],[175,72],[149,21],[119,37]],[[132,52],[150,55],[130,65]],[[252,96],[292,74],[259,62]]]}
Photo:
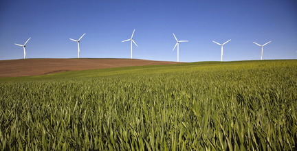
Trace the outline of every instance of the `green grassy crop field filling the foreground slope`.
{"label": "green grassy crop field filling the foreground slope", "polygon": [[297,150],[297,60],[0,78],[0,150]]}

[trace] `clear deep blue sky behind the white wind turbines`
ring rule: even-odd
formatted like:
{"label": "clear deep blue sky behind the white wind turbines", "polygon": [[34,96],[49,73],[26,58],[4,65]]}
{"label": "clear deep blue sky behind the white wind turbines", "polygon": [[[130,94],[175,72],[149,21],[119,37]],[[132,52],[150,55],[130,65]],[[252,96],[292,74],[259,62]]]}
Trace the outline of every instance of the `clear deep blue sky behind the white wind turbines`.
{"label": "clear deep blue sky behind the white wind turbines", "polygon": [[184,1],[1,1],[0,60],[28,58],[133,58],[176,61],[297,59],[296,0],[184,0]]}

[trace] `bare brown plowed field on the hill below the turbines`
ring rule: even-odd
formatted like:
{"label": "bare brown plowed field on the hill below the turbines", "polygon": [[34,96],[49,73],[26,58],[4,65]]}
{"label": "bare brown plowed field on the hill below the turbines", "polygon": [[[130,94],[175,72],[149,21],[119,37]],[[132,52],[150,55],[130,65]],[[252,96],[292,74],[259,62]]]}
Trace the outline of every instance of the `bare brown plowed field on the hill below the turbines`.
{"label": "bare brown plowed field on the hill below the turbines", "polygon": [[77,71],[89,69],[103,69],[112,67],[129,67],[143,65],[170,65],[179,62],[152,61],[140,59],[21,59],[0,60],[0,77],[17,77],[30,75],[44,75],[50,73]]}

